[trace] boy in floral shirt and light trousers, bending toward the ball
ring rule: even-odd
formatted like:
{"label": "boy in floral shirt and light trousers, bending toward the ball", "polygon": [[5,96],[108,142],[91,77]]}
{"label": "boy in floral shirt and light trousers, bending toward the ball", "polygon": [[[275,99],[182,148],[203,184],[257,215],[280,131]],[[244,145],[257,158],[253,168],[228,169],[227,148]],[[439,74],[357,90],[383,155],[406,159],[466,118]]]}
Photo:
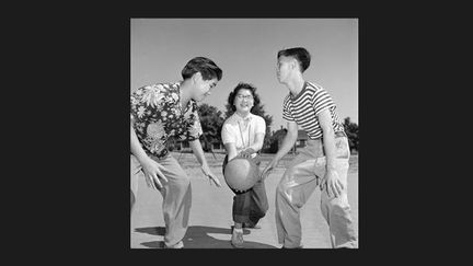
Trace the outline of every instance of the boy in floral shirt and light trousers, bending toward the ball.
{"label": "boy in floral shirt and light trousers, bending toward the ball", "polygon": [[166,141],[175,136],[187,140],[201,165],[201,171],[220,187],[210,172],[199,136],[203,134],[197,103],[210,94],[222,77],[210,59],[196,57],[182,70],[183,81],[139,88],[131,94],[131,209],[138,189],[138,176],[163,196],[166,227],[165,247],[183,247],[191,210],[191,181],[178,162],[169,153]]}

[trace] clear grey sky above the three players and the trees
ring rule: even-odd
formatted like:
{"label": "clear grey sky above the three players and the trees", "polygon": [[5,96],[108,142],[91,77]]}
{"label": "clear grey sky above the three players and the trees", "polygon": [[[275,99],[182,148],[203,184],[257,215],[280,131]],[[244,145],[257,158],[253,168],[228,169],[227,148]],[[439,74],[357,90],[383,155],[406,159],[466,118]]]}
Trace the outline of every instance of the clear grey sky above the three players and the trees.
{"label": "clear grey sky above the three players and the trees", "polygon": [[341,119],[358,124],[358,19],[131,19],[130,31],[130,92],[180,81],[188,60],[208,57],[223,74],[201,103],[224,113],[236,84],[251,83],[277,130],[287,125],[289,93],[276,78],[277,53],[304,47],[311,54],[304,79],[328,92]]}

